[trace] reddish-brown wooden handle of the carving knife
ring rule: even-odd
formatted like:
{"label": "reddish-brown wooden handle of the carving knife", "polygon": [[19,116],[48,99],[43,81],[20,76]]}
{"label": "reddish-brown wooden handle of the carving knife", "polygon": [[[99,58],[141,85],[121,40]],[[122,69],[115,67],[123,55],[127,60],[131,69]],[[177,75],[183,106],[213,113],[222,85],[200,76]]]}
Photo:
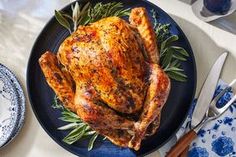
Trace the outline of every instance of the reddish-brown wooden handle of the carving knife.
{"label": "reddish-brown wooden handle of the carving knife", "polygon": [[185,134],[182,138],[180,138],[180,140],[166,154],[166,157],[178,157],[196,137],[197,133],[194,130],[191,130],[190,132]]}

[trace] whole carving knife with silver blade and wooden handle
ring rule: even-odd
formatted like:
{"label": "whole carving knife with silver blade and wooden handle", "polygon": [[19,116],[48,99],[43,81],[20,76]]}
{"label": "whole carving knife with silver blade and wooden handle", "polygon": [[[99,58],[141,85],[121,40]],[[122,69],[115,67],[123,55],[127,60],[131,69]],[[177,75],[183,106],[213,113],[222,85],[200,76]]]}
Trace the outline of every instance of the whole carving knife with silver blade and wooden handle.
{"label": "whole carving knife with silver blade and wooden handle", "polygon": [[199,124],[201,124],[209,108],[209,104],[211,103],[212,97],[214,95],[215,88],[219,80],[219,76],[227,54],[227,52],[223,53],[216,60],[207,76],[207,79],[201,89],[201,93],[199,95],[195,110],[193,112],[191,131],[185,134],[176,143],[176,145],[171,148],[171,150],[167,153],[167,157],[178,157],[183,151],[186,153],[187,151],[185,150],[185,148],[187,148],[192,140],[197,137],[197,132],[199,130],[197,130],[196,128],[199,126]]}

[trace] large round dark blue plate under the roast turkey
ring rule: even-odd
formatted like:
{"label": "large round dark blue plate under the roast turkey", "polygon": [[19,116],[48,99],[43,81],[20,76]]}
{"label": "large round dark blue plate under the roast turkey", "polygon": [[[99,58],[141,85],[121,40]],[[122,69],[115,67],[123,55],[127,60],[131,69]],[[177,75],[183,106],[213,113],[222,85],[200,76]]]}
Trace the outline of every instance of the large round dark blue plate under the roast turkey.
{"label": "large round dark blue plate under the roast turkey", "polygon": [[[149,13],[152,9],[156,10],[160,16],[159,22],[170,23],[171,33],[179,36],[177,45],[184,47],[190,57],[183,63],[183,68],[188,76],[188,81],[181,83],[172,81],[172,88],[162,110],[161,125],[158,132],[150,138],[142,142],[139,151],[120,148],[113,145],[110,141],[102,139],[97,140],[92,151],[87,151],[88,141],[79,141],[73,145],[67,145],[62,142],[67,132],[58,131],[57,128],[63,123],[58,120],[60,113],[51,108],[54,92],[47,85],[45,78],[40,70],[38,59],[46,51],[57,52],[60,43],[69,35],[67,30],[61,27],[53,17],[45,26],[36,40],[31,56],[28,62],[27,70],[27,86],[29,98],[31,101],[34,113],[44,128],[44,130],[63,148],[82,157],[133,157],[144,156],[151,153],[165,144],[178,130],[184,121],[196,87],[196,68],[191,46],[180,27],[171,17],[154,4],[144,0],[116,0],[124,4],[126,8],[134,8],[138,6],[145,7]],[[94,0],[92,3],[97,3]],[[103,0],[104,3],[110,2]],[[63,9],[65,12],[70,11],[70,5]]]}

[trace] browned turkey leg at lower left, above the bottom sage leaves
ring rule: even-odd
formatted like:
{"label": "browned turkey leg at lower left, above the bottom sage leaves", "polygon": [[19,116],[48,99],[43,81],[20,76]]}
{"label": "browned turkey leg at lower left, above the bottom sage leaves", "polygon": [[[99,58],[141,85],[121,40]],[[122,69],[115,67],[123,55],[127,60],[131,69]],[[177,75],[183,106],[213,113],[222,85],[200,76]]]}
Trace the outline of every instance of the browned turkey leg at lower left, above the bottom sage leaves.
{"label": "browned turkey leg at lower left, above the bottom sage leaves", "polygon": [[100,97],[92,86],[77,86],[76,88],[76,112],[85,122],[94,128],[133,129],[134,122],[119,116],[100,102]]}

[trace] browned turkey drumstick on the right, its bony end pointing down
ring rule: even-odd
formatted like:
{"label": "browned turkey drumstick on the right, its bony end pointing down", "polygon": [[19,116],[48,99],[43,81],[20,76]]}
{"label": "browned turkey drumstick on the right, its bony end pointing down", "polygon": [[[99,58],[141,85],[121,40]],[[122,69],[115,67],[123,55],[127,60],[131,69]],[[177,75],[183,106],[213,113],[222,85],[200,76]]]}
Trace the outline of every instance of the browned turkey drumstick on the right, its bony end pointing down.
{"label": "browned turkey drumstick on the right, its bony end pointing down", "polygon": [[[150,86],[146,95],[143,112],[138,122],[134,137],[130,141],[135,150],[140,148],[141,140],[145,137],[148,126],[160,115],[170,91],[170,79],[157,64],[151,64]],[[155,122],[157,123],[157,122]],[[154,127],[155,129],[155,127]]]}

